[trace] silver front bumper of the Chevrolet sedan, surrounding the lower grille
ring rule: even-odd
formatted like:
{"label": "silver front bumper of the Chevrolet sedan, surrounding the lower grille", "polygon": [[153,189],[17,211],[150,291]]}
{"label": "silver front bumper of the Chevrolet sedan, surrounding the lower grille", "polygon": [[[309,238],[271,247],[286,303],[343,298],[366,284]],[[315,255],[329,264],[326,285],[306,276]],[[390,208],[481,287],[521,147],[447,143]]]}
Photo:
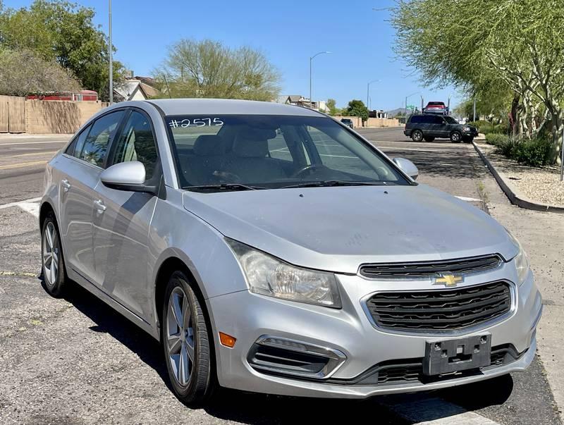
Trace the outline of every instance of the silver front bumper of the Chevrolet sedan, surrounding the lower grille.
{"label": "silver front bumper of the Chevrolet sedan, surrounding the lower grille", "polygon": [[[488,280],[507,279],[511,267],[487,273]],[[509,273],[509,274],[508,274]],[[216,360],[219,383],[228,388],[257,393],[297,395],[324,398],[367,398],[377,394],[433,390],[480,381],[494,376],[525,370],[534,359],[535,331],[540,319],[541,295],[532,273],[515,291],[512,314],[503,321],[484,324],[472,331],[443,333],[394,333],[375,328],[362,308],[363,297],[376,290],[414,288],[414,283],[369,281],[359,276],[338,276],[343,296],[343,309],[277,300],[248,291],[221,295],[208,300],[216,339]],[[484,276],[467,278],[465,285],[475,285]],[[513,280],[513,279],[511,279]],[[415,285],[428,285],[416,283]],[[388,288],[386,288],[386,285]],[[219,343],[218,332],[235,336],[235,347]],[[501,366],[491,366],[473,374],[462,374],[440,381],[410,381],[358,384],[358,377],[367,374],[376,364],[398,359],[421,359],[427,341],[466,338],[491,334],[491,346],[512,345],[520,356]],[[319,379],[268,374],[253,368],[249,353],[264,335],[274,335],[327,347],[345,356],[345,361],[331,373]],[[356,380],[356,381],[355,381]]]}

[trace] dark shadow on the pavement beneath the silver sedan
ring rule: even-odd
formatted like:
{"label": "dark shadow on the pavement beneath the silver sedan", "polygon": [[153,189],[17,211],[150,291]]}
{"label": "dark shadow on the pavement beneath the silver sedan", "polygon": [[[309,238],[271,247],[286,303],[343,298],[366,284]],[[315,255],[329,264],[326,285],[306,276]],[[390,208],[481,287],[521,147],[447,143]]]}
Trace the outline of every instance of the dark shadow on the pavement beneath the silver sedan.
{"label": "dark shadow on the pavement beneath the silver sedan", "polygon": [[[128,347],[145,364],[157,371],[164,385],[171,389],[161,346],[154,338],[77,284],[68,287],[65,300],[94,322],[94,326],[90,327],[91,331],[108,333]],[[492,385],[494,382],[495,385]],[[513,381],[510,376],[503,376],[497,381],[460,386],[455,395],[448,390],[431,394],[460,404],[465,409],[482,409],[503,404],[510,396],[512,388]],[[367,400],[333,400],[263,395],[221,388],[204,410],[217,419],[244,424],[348,422],[352,412],[358,418],[377,417],[378,424],[409,424],[409,421],[398,417],[386,407],[400,402],[402,397],[394,395]],[[393,400],[393,403],[390,400]]]}

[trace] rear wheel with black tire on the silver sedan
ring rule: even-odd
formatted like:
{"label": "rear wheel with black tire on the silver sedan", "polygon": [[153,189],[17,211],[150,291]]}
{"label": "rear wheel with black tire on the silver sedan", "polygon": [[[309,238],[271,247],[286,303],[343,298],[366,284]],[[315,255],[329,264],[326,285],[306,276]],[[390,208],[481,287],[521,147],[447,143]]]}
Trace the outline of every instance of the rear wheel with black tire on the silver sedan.
{"label": "rear wheel with black tire on the silver sedan", "polygon": [[63,295],[68,278],[66,277],[59,226],[57,226],[53,212],[47,213],[41,226],[41,276],[43,288],[49,295],[52,297]]}

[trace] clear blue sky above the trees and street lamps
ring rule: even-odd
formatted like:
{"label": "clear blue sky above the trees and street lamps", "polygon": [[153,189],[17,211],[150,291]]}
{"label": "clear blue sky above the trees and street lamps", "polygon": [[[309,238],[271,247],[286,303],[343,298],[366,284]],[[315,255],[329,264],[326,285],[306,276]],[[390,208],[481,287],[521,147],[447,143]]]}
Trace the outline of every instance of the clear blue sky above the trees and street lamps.
{"label": "clear blue sky above the trees and street lamps", "polygon": [[[29,6],[32,1],[6,0],[6,7]],[[107,31],[108,1],[78,0],[96,10],[96,23]],[[425,101],[461,100],[457,90],[432,90],[419,84],[405,63],[395,58],[393,28],[386,8],[392,0],[114,0],[112,2],[115,57],[136,75],[150,75],[166,56],[166,48],[180,38],[216,39],[231,47],[261,49],[282,75],[281,94],[309,96],[309,56],[314,59],[314,99],[366,101],[367,82],[373,109],[395,109],[405,95],[420,92]],[[419,94],[408,104],[419,105]]]}

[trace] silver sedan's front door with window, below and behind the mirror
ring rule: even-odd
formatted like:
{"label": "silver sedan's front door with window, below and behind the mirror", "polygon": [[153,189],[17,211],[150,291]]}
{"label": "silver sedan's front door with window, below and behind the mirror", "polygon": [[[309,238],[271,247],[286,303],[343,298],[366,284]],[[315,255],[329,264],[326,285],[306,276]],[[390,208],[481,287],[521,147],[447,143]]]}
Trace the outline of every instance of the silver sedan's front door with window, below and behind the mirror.
{"label": "silver sedan's front door with window, below and behind the mirror", "polygon": [[[150,118],[133,109],[111,147],[109,166],[125,161],[145,165],[147,184],[157,186],[161,166]],[[149,225],[157,197],[116,190],[101,181],[94,207],[94,283],[141,318],[150,316],[147,256]]]}

